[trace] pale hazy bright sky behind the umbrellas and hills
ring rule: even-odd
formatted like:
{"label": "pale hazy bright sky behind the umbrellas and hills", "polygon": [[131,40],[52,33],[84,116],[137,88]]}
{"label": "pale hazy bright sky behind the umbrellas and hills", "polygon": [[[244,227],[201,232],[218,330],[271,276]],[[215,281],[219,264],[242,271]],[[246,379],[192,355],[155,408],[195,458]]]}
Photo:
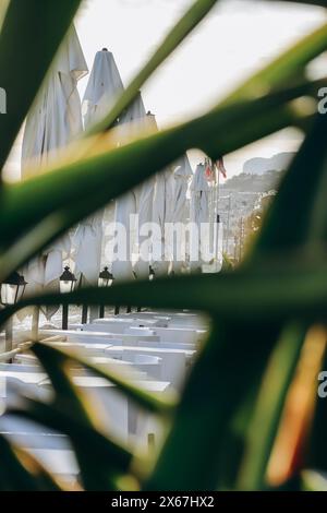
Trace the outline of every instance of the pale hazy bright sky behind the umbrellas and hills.
{"label": "pale hazy bright sky behind the umbrellas and hills", "polygon": [[[128,84],[192,2],[88,0],[76,19],[76,29],[89,68],[96,51],[108,47]],[[146,108],[157,115],[161,128],[203,111],[324,16],[323,9],[287,2],[221,1],[143,88]],[[84,79],[80,85],[82,95],[86,83]],[[298,144],[296,134],[281,133],[229,155],[229,175],[240,172],[247,158],[292,151]],[[16,175],[17,157],[10,167]]]}

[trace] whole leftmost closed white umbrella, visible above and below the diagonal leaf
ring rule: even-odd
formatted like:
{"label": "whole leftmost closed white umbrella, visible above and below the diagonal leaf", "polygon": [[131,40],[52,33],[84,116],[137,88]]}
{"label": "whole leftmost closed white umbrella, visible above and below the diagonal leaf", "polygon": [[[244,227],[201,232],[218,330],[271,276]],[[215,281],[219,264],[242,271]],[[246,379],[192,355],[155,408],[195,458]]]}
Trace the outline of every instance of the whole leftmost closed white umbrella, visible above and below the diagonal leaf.
{"label": "whole leftmost closed white umbrella, visible above and below the diagonal leaf", "polygon": [[[82,131],[81,100],[77,82],[88,72],[74,26],[70,29],[25,126],[22,150],[22,177],[37,172],[49,164]],[[24,270],[26,291],[59,288],[62,261],[69,256],[70,239],[62,238],[48,247]],[[56,310],[48,310],[51,318]]]}

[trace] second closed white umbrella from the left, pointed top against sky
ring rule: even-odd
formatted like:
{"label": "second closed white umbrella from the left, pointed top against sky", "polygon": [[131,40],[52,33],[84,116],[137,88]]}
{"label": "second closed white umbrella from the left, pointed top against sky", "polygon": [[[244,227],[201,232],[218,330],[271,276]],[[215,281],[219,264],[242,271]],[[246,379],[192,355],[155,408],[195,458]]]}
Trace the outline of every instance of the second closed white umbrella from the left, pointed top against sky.
{"label": "second closed white umbrella from the left, pointed top against sky", "polygon": [[[85,128],[97,122],[123,91],[113,56],[106,48],[95,56],[82,104]],[[101,267],[104,211],[81,223],[73,237],[75,275],[95,285]]]}

